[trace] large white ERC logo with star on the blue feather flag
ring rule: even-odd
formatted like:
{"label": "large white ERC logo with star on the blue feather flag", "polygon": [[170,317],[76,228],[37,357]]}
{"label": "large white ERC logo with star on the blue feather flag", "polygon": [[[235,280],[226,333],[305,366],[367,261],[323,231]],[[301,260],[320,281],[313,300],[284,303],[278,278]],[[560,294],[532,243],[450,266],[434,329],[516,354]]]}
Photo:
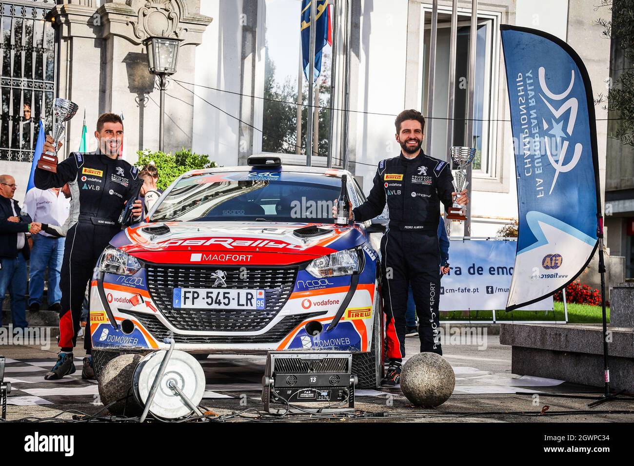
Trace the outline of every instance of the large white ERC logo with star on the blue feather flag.
{"label": "large white ERC logo with star on the blue feather flag", "polygon": [[[570,91],[573,90],[574,70],[571,70],[570,84],[568,85],[568,89],[566,89],[566,91],[562,94],[552,93],[550,89],[548,89],[548,86],[546,84],[546,68],[540,67],[539,76],[540,76],[540,86],[543,93],[546,94],[547,97],[552,100],[555,100],[555,101],[564,100],[568,96]],[[550,112],[552,112],[555,119],[559,119],[559,117],[561,117],[567,110],[570,110],[570,118],[568,120],[568,125],[566,126],[566,133],[568,133],[568,136],[572,136],[574,123],[576,122],[576,119],[577,119],[577,110],[579,107],[578,100],[575,97],[571,97],[568,100],[566,100],[564,103],[562,103],[562,105],[560,105],[560,107],[557,108],[557,110],[555,110],[555,108],[553,108],[553,106],[550,105],[550,103],[548,103],[546,98],[541,93],[540,93],[540,97],[541,97],[541,100],[543,100],[544,103],[547,105]],[[560,138],[566,138],[566,133],[564,133],[561,130],[563,122],[559,122],[559,124],[557,124],[555,123],[555,120],[551,120],[551,121],[553,124],[553,128],[550,131],[548,131],[548,133],[553,134],[557,138],[557,141],[559,141]],[[544,129],[548,128],[545,120],[542,120],[542,124],[544,125]],[[555,161],[555,158],[550,153],[550,141],[548,140],[548,136],[544,136],[544,139],[546,143],[546,155],[548,155],[548,160],[550,160],[550,164],[555,169],[555,177],[553,178],[553,183],[551,184],[550,191],[548,192],[548,194],[550,194],[555,188],[555,183],[557,183],[557,177],[559,176],[559,172],[569,172],[577,165],[577,163],[579,162],[579,159],[581,158],[581,151],[583,150],[583,145],[581,145],[581,143],[576,143],[576,145],[574,145],[573,159],[564,165],[564,157],[566,157],[566,151],[568,149],[568,141],[564,141],[564,144],[561,146],[561,152],[559,153],[559,157],[557,158],[557,161]]]}

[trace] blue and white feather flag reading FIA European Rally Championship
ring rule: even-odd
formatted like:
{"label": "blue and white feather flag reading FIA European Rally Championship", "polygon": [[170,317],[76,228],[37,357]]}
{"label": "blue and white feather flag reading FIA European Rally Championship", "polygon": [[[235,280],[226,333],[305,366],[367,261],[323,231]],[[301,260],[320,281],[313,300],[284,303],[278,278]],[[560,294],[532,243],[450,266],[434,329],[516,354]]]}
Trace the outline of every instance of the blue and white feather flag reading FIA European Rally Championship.
{"label": "blue and white feather flag reading FIA European Rally Championship", "polygon": [[502,25],[519,236],[507,311],[550,296],[597,248],[597,131],[590,79],[555,36]]}

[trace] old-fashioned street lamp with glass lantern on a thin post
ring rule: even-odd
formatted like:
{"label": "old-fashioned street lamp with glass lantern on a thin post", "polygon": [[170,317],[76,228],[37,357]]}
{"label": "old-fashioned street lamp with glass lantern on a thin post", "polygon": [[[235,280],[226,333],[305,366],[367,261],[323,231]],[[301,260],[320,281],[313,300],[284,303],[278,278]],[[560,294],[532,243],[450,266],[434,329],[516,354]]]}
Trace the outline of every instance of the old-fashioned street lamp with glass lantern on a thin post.
{"label": "old-fashioned street lamp with glass lantern on a thin post", "polygon": [[165,88],[167,76],[176,73],[178,46],[182,39],[169,37],[148,37],[143,41],[148,53],[150,73],[159,77],[160,116],[159,116],[159,150],[163,151],[163,122],[165,117]]}

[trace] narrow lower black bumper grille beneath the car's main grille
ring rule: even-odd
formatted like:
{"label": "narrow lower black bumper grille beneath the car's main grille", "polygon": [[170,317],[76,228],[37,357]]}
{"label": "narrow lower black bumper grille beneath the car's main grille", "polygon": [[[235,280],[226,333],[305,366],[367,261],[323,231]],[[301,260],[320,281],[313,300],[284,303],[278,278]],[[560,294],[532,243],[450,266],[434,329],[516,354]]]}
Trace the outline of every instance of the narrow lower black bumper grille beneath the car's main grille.
{"label": "narrow lower black bumper grille beneath the car's main grille", "polygon": [[136,313],[121,309],[121,312],[133,315],[145,327],[152,336],[162,341],[164,338],[173,338],[176,343],[277,343],[284,339],[288,333],[301,324],[305,319],[325,314],[306,313],[294,316],[286,316],[280,320],[271,330],[260,335],[180,335],[171,332],[161,323],[159,318],[153,314]]}

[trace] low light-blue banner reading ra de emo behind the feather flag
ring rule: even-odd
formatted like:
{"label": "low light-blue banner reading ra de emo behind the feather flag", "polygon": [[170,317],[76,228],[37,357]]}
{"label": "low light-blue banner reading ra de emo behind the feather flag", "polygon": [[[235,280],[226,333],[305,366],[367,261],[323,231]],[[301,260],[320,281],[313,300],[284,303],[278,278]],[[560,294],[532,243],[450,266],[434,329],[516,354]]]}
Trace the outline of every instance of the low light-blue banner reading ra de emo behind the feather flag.
{"label": "low light-blue banner reading ra de emo behind the feather flag", "polygon": [[[513,240],[450,240],[451,270],[440,282],[441,311],[504,309],[515,273]],[[552,296],[527,311],[552,311]]]}

